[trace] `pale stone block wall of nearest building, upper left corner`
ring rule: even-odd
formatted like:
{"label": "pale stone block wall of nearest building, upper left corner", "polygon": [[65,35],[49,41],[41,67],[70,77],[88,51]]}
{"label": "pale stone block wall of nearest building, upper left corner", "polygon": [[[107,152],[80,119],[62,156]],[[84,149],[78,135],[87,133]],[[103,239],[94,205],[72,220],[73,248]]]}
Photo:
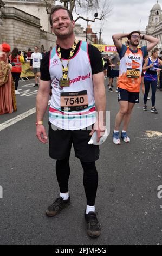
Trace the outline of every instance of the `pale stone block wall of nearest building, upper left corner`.
{"label": "pale stone block wall of nearest building, upper left corner", "polygon": [[40,28],[38,18],[14,7],[2,9],[1,40],[8,42],[11,49],[27,50],[39,46]]}

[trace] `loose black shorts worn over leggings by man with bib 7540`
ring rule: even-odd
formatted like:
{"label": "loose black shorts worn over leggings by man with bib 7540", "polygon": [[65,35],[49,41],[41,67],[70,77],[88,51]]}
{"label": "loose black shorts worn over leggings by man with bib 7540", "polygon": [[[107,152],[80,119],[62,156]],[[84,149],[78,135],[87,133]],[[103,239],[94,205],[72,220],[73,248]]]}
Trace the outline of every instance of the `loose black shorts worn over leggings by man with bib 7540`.
{"label": "loose black shorts worn over leggings by man with bib 7540", "polygon": [[49,123],[49,156],[62,160],[70,157],[72,144],[75,156],[83,162],[94,162],[99,159],[99,146],[88,145],[90,130],[56,130]]}

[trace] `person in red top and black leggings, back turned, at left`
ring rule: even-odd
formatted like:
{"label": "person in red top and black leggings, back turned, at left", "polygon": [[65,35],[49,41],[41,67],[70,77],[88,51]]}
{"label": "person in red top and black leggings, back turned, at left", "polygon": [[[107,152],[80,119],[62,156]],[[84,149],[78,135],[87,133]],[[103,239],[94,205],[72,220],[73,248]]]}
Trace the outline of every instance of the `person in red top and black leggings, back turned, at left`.
{"label": "person in red top and black leggings, back turned, at left", "polygon": [[17,88],[18,88],[18,81],[20,79],[20,75],[21,75],[21,63],[25,63],[25,60],[23,58],[22,55],[19,54],[19,51],[17,48],[14,48],[12,51],[12,54],[10,56],[10,61],[11,61],[11,65],[12,65],[12,77],[13,80],[15,82],[15,94],[20,94],[20,92],[18,92]]}

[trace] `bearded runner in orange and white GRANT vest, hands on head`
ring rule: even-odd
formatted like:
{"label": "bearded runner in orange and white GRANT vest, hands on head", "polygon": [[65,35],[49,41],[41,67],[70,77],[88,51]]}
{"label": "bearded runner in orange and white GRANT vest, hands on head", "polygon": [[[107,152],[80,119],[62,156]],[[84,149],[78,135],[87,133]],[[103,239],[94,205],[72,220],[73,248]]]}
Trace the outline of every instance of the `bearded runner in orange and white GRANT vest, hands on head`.
{"label": "bearded runner in orange and white GRANT vest, hands on head", "polygon": [[[128,47],[123,45],[120,41],[121,38],[128,38]],[[150,44],[142,48],[138,48],[140,39],[145,39]],[[118,81],[118,101],[119,112],[115,119],[115,129],[113,132],[113,142],[120,144],[119,127],[124,122],[121,132],[121,138],[124,142],[130,142],[127,136],[127,127],[131,119],[131,112],[135,103],[139,103],[139,91],[141,84],[141,73],[143,59],[147,51],[158,44],[159,39],[153,38],[150,35],[141,35],[140,31],[133,31],[127,34],[113,35],[113,41],[118,49],[120,56],[120,71]]]}

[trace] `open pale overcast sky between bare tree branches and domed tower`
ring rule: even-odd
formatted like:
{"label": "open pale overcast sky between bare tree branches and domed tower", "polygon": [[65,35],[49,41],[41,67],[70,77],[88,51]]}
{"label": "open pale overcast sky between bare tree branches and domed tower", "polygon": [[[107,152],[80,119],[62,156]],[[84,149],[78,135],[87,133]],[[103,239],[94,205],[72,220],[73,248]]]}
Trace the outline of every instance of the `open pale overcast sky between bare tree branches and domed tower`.
{"label": "open pale overcast sky between bare tree branches and domed tower", "polygon": [[[103,1],[103,0],[100,0]],[[105,44],[113,44],[112,35],[116,33],[127,33],[140,29],[145,31],[148,25],[148,17],[153,5],[157,0],[111,0],[112,13],[108,20],[104,23],[96,21],[95,23],[89,22],[93,28],[93,32],[98,33],[102,26],[102,39]],[[159,0],[162,7],[162,0]],[[89,14],[88,14],[89,15]],[[88,16],[89,17],[89,16]],[[86,28],[86,22],[78,20],[77,23]]]}

